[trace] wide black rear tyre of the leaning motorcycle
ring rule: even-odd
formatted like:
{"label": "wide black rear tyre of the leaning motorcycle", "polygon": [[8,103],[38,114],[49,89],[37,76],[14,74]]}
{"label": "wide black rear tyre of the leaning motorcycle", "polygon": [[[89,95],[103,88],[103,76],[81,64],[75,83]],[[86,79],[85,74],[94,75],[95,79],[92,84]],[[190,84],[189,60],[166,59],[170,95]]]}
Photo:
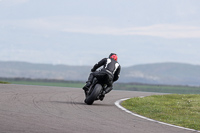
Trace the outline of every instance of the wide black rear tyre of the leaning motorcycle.
{"label": "wide black rear tyre of the leaning motorcycle", "polygon": [[92,105],[93,102],[97,99],[99,94],[101,93],[102,86],[100,84],[96,84],[92,93],[86,97],[85,103],[88,105]]}

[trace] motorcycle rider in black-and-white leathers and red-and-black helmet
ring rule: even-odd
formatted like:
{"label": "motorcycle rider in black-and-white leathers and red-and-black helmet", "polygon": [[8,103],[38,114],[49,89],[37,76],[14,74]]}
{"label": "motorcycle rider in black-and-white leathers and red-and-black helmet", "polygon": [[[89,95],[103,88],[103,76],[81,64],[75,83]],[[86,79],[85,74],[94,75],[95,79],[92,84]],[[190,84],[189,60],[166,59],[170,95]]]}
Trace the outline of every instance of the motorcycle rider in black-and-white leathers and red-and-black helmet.
{"label": "motorcycle rider in black-and-white leathers and red-and-black helmet", "polygon": [[[110,92],[113,89],[113,82],[117,81],[119,79],[119,73],[121,70],[120,64],[117,62],[117,54],[111,53],[108,58],[103,58],[100,60],[97,64],[93,66],[91,69],[91,74],[88,78],[88,81],[86,82],[86,85],[83,87],[83,90],[85,93],[87,93],[90,85],[92,84],[94,76],[96,77],[102,77],[106,78],[107,80],[107,88],[102,93],[101,99],[103,100],[105,94]],[[100,71],[96,71],[99,67],[103,66],[103,68]]]}

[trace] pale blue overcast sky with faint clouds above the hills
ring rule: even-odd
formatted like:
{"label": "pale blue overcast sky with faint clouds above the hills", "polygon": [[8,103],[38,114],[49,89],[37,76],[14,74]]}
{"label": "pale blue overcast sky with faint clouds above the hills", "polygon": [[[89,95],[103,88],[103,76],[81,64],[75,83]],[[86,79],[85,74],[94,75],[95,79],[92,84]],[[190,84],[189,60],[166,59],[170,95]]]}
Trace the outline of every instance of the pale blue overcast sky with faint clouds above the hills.
{"label": "pale blue overcast sky with faint clouds above the hills", "polygon": [[0,0],[0,61],[200,65],[200,0]]}

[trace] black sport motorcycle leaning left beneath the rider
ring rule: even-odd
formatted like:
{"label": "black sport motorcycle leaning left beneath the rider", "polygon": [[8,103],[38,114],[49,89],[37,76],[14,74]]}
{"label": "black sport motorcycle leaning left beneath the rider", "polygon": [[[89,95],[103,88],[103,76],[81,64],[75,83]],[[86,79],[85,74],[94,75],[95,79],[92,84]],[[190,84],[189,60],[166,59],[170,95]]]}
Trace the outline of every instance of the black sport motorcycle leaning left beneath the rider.
{"label": "black sport motorcycle leaning left beneath the rider", "polygon": [[92,105],[95,100],[103,100],[105,97],[105,89],[107,87],[107,75],[104,77],[94,77],[88,91],[85,92],[85,103]]}

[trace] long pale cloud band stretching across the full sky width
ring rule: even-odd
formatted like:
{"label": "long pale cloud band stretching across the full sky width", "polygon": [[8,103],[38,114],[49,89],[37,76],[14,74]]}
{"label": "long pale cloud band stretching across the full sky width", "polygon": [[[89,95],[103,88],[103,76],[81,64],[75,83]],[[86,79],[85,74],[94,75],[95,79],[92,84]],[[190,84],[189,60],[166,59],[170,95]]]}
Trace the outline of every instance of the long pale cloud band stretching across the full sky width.
{"label": "long pale cloud band stretching across the full sky width", "polygon": [[113,26],[114,22],[98,17],[51,17],[4,21],[1,25],[11,25],[25,29],[62,31],[71,33],[102,34],[116,36],[154,36],[168,39],[200,38],[200,27],[181,24],[155,24],[150,26]]}

